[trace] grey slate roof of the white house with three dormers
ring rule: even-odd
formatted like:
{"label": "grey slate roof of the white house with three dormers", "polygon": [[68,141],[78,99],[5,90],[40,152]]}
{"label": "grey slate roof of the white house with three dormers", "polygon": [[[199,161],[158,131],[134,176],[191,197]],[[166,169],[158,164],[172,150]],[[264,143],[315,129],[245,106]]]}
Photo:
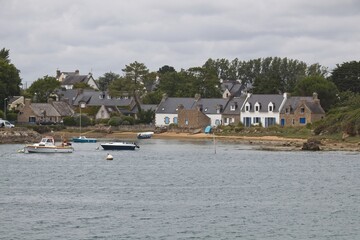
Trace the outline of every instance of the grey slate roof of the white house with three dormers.
{"label": "grey slate roof of the white house with three dormers", "polygon": [[[279,107],[284,100],[283,95],[277,94],[251,94],[251,96],[247,99],[246,102],[251,104],[250,112],[255,112],[255,103],[258,102],[261,106],[259,112],[268,112],[268,105],[270,102],[274,104],[273,112],[279,112]],[[241,112],[245,112],[245,108],[241,110]]]}

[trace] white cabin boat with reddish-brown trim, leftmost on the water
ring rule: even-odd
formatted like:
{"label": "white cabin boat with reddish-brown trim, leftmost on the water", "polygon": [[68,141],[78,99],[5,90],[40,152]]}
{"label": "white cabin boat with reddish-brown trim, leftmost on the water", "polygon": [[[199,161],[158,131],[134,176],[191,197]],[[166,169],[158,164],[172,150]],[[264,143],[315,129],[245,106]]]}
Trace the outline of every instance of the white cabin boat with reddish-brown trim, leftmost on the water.
{"label": "white cabin boat with reddish-brown trim, leftmost on the water", "polygon": [[55,145],[53,137],[47,136],[41,139],[39,143],[26,145],[25,151],[28,153],[72,153],[74,148],[70,143],[63,142],[61,145]]}

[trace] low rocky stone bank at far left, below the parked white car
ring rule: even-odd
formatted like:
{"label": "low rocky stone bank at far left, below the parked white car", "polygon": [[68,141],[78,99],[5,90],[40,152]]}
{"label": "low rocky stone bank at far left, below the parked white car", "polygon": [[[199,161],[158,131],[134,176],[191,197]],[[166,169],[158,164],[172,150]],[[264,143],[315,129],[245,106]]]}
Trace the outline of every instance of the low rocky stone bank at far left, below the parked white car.
{"label": "low rocky stone bank at far left, below the parked white car", "polygon": [[34,143],[39,142],[41,134],[27,128],[2,128],[0,144],[4,143]]}

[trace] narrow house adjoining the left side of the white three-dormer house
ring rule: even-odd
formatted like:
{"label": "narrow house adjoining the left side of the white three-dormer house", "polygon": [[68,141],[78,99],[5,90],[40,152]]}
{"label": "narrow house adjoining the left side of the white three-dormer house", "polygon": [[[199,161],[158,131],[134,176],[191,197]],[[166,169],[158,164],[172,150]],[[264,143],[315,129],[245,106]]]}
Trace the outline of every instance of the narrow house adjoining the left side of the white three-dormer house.
{"label": "narrow house adjoining the left side of the white three-dormer house", "polygon": [[246,95],[230,98],[222,112],[222,124],[238,124],[240,120],[240,111],[244,105]]}

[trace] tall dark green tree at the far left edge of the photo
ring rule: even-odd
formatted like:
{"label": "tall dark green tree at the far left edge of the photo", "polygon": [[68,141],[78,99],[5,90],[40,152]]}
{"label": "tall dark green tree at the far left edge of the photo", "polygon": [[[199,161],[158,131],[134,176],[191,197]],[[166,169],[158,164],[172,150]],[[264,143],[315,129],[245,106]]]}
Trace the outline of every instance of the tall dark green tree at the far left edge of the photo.
{"label": "tall dark green tree at the far left edge of the photo", "polygon": [[3,48],[0,50],[0,106],[9,97],[20,94],[20,85],[20,71],[11,63],[10,51]]}

